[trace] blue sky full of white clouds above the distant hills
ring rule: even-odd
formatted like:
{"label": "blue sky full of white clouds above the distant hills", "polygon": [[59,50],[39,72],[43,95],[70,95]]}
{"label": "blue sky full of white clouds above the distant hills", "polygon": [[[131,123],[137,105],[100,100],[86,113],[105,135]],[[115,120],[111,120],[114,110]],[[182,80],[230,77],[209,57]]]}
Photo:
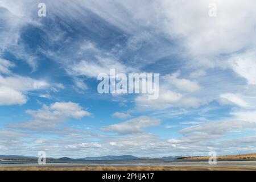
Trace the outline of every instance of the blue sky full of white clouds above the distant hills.
{"label": "blue sky full of white clouds above the distant hills", "polygon": [[[38,16],[45,3],[46,16]],[[212,5],[215,15],[210,11]],[[256,151],[253,0],[0,0],[0,154]],[[159,73],[159,97],[100,73]]]}

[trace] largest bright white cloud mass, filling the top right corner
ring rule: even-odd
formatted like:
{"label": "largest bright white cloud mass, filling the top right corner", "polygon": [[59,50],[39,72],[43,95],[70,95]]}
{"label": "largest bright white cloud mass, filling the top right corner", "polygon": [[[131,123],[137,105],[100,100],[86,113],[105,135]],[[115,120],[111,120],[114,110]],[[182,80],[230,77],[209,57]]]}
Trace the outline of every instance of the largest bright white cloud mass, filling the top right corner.
{"label": "largest bright white cloud mass, filling the top right corner", "polygon": [[253,18],[248,20],[255,16],[254,1],[214,1],[217,5],[216,18],[208,16],[210,1],[161,2],[162,12],[166,15],[164,30],[172,37],[184,38],[185,46],[192,55],[230,53],[254,42],[251,36],[255,37],[255,21]]}

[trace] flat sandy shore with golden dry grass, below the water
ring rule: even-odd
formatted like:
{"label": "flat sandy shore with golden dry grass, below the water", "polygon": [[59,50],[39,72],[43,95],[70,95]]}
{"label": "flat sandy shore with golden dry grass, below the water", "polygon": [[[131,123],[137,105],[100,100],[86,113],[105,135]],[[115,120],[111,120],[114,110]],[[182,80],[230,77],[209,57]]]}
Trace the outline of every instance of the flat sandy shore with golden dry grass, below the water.
{"label": "flat sandy shore with golden dry grass, below the water", "polygon": [[0,171],[256,171],[256,161],[217,161],[210,165],[203,161],[161,163],[55,163],[55,164],[0,164]]}

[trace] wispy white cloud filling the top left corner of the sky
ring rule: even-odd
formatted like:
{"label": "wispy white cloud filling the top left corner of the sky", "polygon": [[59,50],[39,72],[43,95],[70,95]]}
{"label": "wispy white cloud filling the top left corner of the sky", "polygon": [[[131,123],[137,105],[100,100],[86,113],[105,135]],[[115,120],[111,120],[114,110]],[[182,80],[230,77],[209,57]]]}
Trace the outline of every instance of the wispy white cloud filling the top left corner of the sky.
{"label": "wispy white cloud filling the top left corner of the sky", "polygon": [[25,46],[20,41],[22,28],[28,24],[39,26],[40,23],[32,19],[32,14],[36,11],[36,2],[26,0],[26,2],[1,1],[0,2],[0,55],[8,51],[18,59],[22,59],[35,71],[38,66],[35,56],[25,51]]}

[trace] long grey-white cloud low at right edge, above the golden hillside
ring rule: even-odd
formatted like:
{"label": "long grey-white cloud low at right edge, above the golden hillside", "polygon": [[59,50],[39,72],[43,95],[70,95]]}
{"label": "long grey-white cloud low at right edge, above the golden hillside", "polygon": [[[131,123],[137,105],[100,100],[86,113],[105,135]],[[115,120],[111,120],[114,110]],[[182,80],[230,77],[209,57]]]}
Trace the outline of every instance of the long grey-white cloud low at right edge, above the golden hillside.
{"label": "long grey-white cloud low at right edge, above the golden hillside", "polygon": [[[223,143],[216,142],[234,132],[246,132],[256,129],[255,111],[234,111],[231,119],[223,121],[211,121],[207,123],[197,123],[197,126],[185,127],[179,131],[183,137],[169,139],[168,142],[175,146],[197,146],[216,147],[216,150],[230,150]],[[239,139],[234,139],[239,140]],[[242,141],[243,139],[241,139]],[[226,148],[227,147],[227,148]],[[196,148],[195,148],[196,150]]]}

